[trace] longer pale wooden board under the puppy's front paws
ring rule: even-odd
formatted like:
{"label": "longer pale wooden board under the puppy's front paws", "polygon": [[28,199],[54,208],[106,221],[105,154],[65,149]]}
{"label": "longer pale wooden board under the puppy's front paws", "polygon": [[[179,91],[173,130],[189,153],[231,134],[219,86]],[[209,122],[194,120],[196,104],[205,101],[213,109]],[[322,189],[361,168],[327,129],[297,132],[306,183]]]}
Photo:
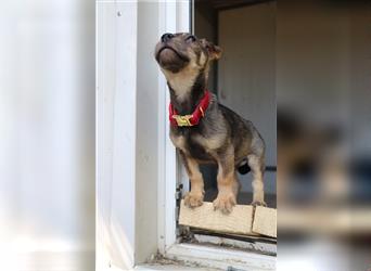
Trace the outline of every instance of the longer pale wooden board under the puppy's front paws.
{"label": "longer pale wooden board under the puppy's front paws", "polygon": [[204,202],[197,208],[189,208],[180,203],[179,224],[216,232],[253,234],[253,206],[235,205],[229,215],[214,210],[213,203]]}

